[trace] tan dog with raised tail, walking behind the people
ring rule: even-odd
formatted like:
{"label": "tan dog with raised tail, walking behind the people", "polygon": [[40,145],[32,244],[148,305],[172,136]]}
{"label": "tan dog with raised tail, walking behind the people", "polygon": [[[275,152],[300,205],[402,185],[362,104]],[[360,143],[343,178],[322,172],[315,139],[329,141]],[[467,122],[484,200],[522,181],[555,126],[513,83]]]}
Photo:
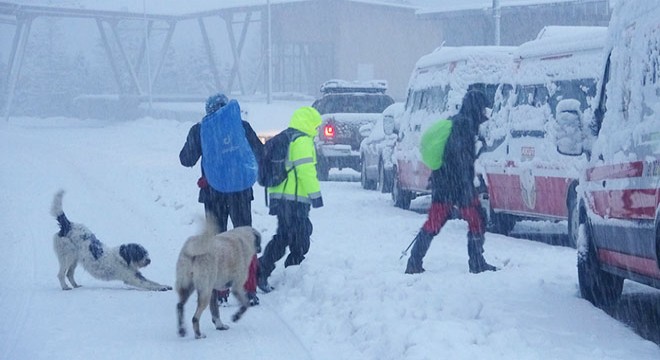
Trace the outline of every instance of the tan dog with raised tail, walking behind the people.
{"label": "tan dog with raised tail, walking behind the people", "polygon": [[217,291],[214,289],[231,287],[232,294],[241,303],[232,316],[233,321],[238,321],[250,306],[243,284],[248,277],[252,256],[261,251],[261,234],[249,226],[216,234],[214,224],[215,221],[207,220],[204,233],[188,238],[179,253],[175,284],[179,294],[176,305],[179,336],[186,335],[183,307],[194,290],[197,290],[197,310],[192,323],[197,339],[206,337],[199,330],[199,318],[209,305],[215,328],[229,328],[220,320]]}

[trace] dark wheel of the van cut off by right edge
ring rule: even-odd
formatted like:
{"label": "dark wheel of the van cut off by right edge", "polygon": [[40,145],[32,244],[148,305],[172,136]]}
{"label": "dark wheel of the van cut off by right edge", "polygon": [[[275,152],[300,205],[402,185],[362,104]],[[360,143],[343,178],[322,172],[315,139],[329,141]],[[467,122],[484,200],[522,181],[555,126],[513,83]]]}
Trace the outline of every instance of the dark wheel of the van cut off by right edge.
{"label": "dark wheel of the van cut off by right edge", "polygon": [[589,226],[582,223],[578,229],[584,237],[577,252],[580,295],[599,308],[612,306],[621,297],[623,278],[601,269]]}

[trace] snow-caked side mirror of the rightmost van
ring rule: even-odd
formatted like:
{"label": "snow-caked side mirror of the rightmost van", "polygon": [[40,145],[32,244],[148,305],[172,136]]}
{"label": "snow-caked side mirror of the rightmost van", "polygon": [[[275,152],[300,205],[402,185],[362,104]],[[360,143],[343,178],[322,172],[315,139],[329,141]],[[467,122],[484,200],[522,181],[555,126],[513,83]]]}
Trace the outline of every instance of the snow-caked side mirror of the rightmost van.
{"label": "snow-caked side mirror of the rightmost van", "polygon": [[584,150],[584,129],[580,102],[574,99],[557,103],[557,152],[562,155],[578,156]]}

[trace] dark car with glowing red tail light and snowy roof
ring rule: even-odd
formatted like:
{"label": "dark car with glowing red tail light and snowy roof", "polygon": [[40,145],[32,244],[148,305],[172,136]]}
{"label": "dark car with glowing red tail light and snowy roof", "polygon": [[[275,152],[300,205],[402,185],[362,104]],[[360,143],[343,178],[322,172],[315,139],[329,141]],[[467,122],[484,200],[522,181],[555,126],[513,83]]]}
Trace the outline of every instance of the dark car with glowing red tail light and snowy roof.
{"label": "dark car with glowing red tail light and snowy roof", "polygon": [[312,104],[323,119],[315,139],[319,180],[328,180],[332,168],[361,170],[360,143],[368,130],[360,128],[374,124],[394,103],[386,90],[383,80],[330,80],[321,86],[323,96]]}

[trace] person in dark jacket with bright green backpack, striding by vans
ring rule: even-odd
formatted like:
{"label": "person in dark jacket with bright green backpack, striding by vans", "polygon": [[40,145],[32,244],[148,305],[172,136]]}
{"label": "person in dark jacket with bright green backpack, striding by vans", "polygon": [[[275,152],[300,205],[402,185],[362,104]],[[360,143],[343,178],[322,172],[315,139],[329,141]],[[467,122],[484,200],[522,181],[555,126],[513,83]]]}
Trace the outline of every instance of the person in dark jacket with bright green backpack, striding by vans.
{"label": "person in dark jacket with bright green backpack, striding by vans", "polygon": [[463,97],[458,114],[440,120],[422,135],[420,151],[424,163],[431,168],[431,208],[428,218],[413,240],[406,274],[424,272],[422,259],[431,240],[449,220],[454,208],[468,223],[468,267],[471,273],[495,271],[484,259],[485,220],[474,186],[474,163],[479,125],[488,119],[488,97],[470,90]]}

